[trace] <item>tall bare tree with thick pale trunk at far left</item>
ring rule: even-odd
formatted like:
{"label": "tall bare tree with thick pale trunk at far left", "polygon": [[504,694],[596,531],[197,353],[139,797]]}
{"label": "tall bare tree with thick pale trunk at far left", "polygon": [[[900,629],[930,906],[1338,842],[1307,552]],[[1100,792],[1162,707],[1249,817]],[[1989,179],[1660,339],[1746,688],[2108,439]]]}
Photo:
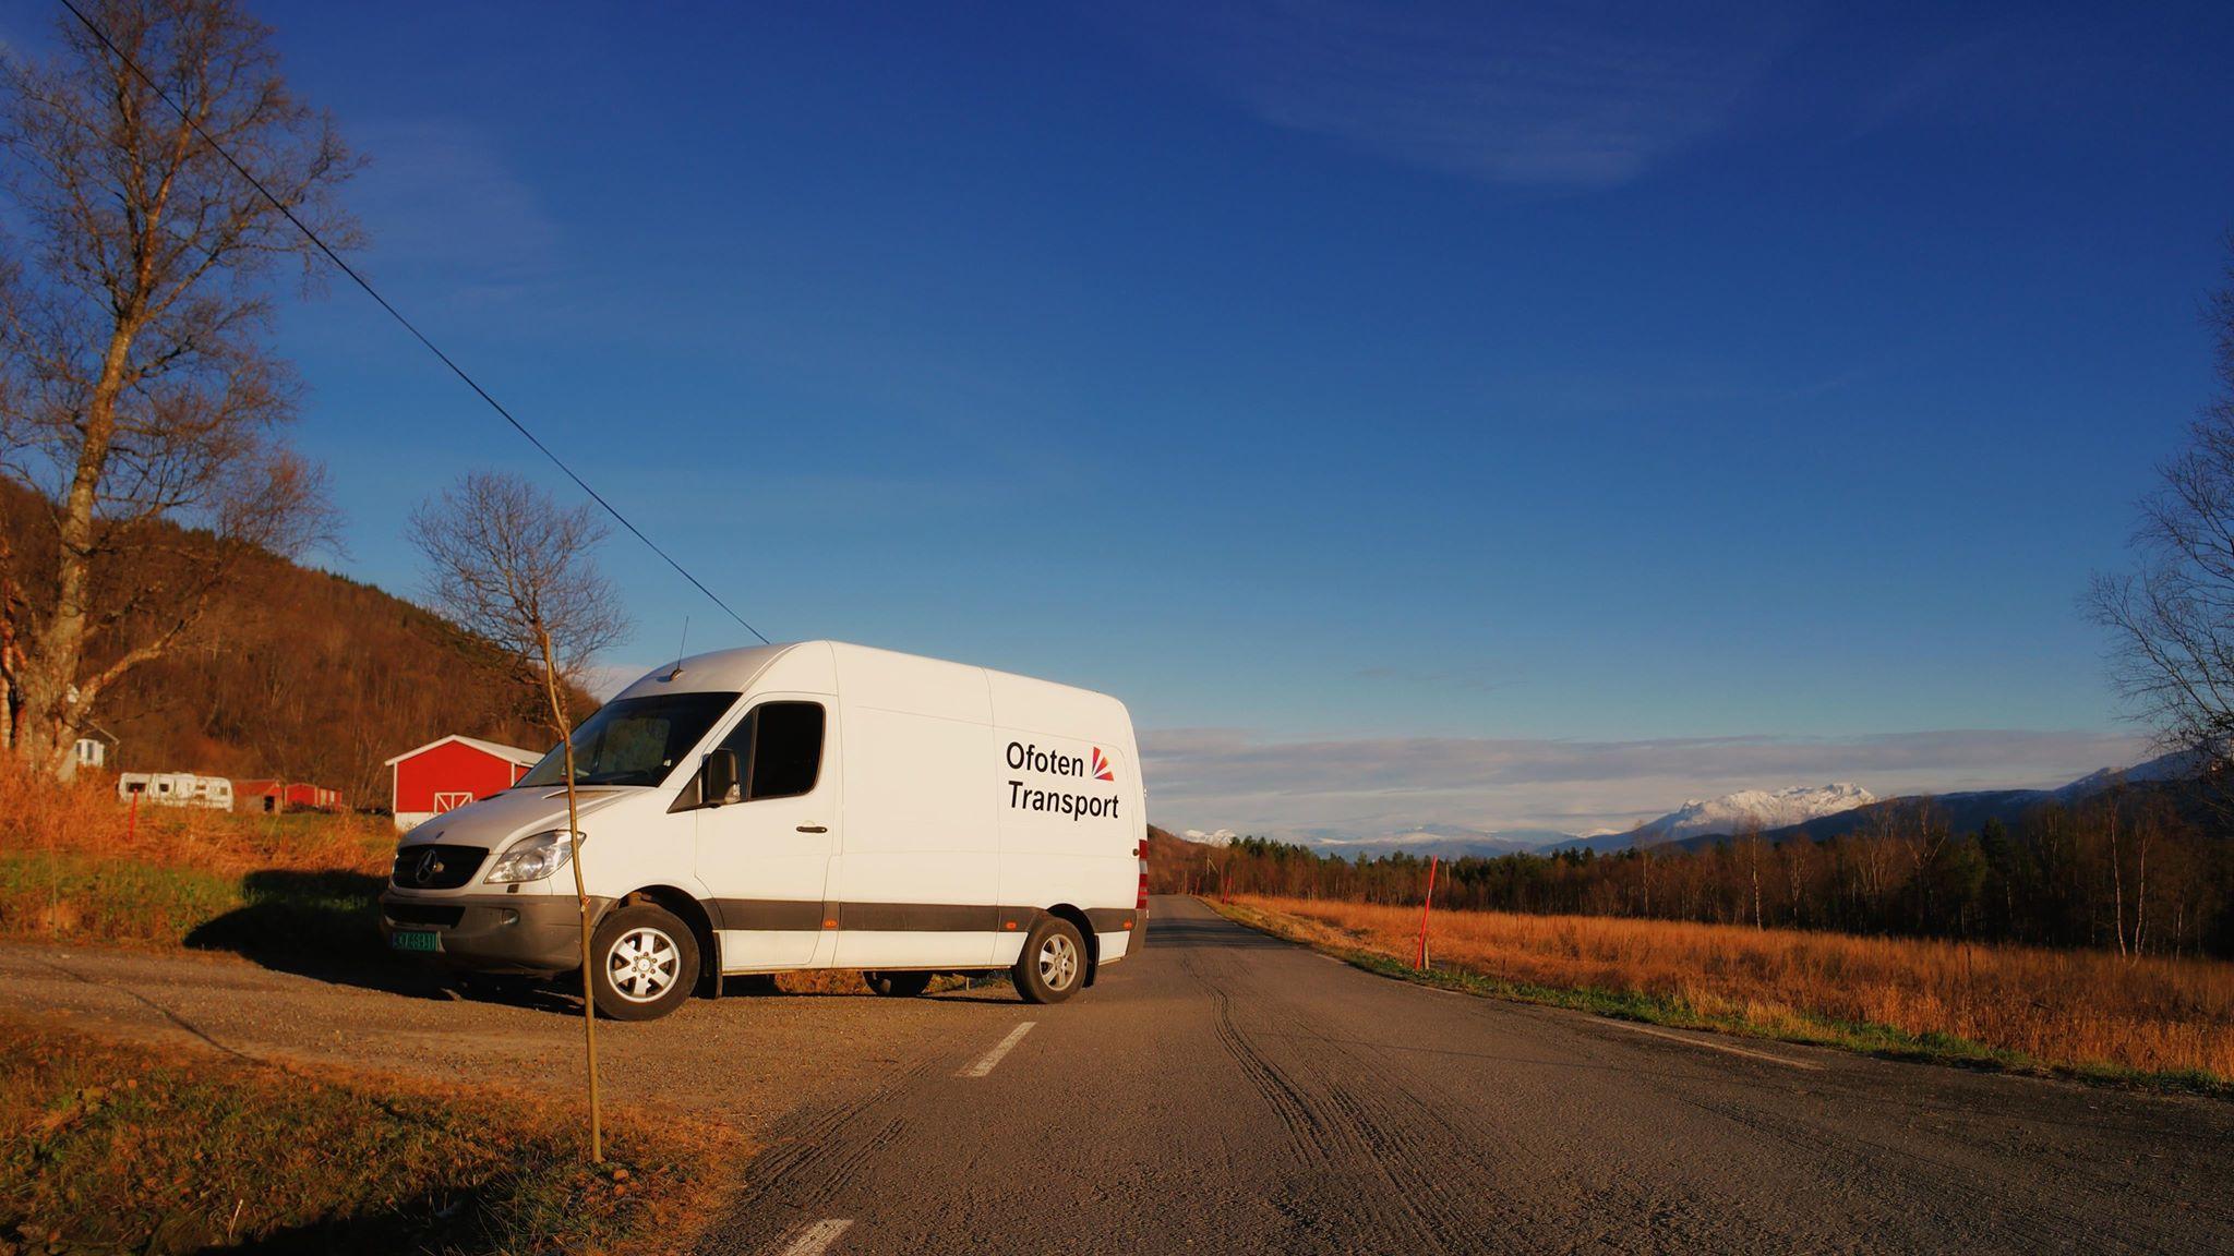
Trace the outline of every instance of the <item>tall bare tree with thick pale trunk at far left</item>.
{"label": "tall bare tree with thick pale trunk at far left", "polygon": [[31,244],[0,268],[0,474],[47,514],[42,552],[0,570],[0,726],[63,776],[103,691],[188,637],[244,554],[328,534],[264,346],[279,275],[313,288],[315,255],[219,150],[360,244],[333,201],[355,161],[261,22],[232,0],[83,9],[114,49],[65,11],[51,60],[0,63],[0,185]]}

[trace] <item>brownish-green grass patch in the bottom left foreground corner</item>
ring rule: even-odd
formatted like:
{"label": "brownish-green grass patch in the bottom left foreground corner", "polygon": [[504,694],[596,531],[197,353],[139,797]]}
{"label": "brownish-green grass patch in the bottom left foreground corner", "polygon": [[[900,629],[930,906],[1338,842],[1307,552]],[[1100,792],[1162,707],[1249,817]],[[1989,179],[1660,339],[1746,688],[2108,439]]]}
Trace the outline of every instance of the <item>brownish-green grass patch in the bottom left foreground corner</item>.
{"label": "brownish-green grass patch in the bottom left foreground corner", "polygon": [[0,1252],[666,1252],[742,1144],[0,1021]]}

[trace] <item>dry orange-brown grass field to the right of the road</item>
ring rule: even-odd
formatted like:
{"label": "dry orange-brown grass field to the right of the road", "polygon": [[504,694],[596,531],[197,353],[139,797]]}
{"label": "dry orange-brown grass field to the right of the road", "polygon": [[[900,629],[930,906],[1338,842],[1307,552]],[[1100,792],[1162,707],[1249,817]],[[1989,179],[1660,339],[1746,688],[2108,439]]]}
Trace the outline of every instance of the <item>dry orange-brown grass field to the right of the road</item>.
{"label": "dry orange-brown grass field to the right of the road", "polygon": [[[1229,916],[1410,977],[1419,907]],[[2234,963],[1743,925],[1436,912],[1432,981],[1676,1026],[2234,1095]]]}

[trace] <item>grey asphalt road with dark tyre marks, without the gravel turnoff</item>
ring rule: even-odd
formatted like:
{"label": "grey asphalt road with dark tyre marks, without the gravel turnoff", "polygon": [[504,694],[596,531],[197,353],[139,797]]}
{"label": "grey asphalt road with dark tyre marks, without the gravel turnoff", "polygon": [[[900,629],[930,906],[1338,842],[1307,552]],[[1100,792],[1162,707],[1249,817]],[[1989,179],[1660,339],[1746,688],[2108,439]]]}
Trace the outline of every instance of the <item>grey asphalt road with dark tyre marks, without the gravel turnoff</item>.
{"label": "grey asphalt road with dark tyre marks, without the gravel turnoff", "polygon": [[2234,1252],[2234,1104],[1448,995],[1184,898],[1153,921],[1070,1003],[976,1003],[775,1120],[708,1254]]}

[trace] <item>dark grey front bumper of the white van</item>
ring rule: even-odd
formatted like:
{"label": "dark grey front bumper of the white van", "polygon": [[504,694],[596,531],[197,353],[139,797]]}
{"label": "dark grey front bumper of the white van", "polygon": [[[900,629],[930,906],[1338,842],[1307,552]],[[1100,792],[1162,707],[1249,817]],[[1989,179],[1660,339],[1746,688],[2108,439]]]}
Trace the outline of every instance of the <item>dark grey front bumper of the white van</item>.
{"label": "dark grey front bumper of the white van", "polygon": [[[590,919],[605,912],[590,898]],[[438,950],[404,952],[398,932],[433,934]],[[380,941],[398,954],[471,972],[550,977],[581,968],[581,905],[550,894],[380,894]]]}

